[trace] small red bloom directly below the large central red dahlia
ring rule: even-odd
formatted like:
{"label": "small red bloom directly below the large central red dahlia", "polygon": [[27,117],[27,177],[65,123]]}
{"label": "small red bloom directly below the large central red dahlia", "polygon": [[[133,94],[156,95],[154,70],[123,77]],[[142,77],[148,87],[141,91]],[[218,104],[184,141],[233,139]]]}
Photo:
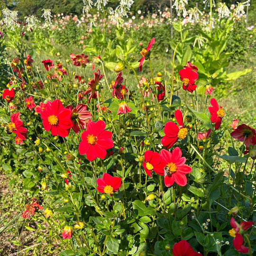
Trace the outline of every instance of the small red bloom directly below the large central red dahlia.
{"label": "small red bloom directly below the large central red dahlia", "polygon": [[102,179],[97,180],[98,191],[101,193],[106,193],[112,196],[114,192],[119,191],[122,184],[122,179],[119,177],[112,177],[110,174],[104,173]]}

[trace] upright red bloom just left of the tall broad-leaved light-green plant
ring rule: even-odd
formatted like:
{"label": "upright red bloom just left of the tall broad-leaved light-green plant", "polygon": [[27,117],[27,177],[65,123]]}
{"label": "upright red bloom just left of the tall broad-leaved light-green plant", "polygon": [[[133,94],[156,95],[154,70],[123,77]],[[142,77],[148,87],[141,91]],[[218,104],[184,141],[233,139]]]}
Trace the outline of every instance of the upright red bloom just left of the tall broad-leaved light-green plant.
{"label": "upright red bloom just left of the tall broad-leaved light-green plant", "polygon": [[192,68],[187,67],[180,70],[180,78],[183,82],[183,90],[193,92],[196,89],[195,81],[198,79],[198,73],[193,72]]}

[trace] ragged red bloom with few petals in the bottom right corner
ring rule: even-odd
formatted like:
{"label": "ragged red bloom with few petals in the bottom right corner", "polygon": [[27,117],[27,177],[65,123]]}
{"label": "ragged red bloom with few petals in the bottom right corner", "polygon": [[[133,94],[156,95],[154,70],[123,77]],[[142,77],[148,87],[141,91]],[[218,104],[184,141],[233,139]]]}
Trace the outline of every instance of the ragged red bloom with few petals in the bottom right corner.
{"label": "ragged red bloom with few petals in the bottom right corner", "polygon": [[233,229],[229,230],[229,235],[234,238],[233,245],[238,252],[248,253],[249,248],[243,246],[244,239],[243,233],[244,230],[249,229],[253,225],[253,221],[243,221],[239,225],[238,222],[232,217],[230,220],[230,225]]}

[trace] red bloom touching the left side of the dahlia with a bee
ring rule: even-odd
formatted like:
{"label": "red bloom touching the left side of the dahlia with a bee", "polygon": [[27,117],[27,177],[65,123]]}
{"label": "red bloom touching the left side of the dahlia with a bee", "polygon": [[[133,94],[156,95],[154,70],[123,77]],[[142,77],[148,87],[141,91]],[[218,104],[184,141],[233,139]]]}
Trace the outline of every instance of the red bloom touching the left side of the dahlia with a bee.
{"label": "red bloom touching the left side of the dahlia with a bee", "polygon": [[143,167],[146,174],[152,177],[152,170],[158,173],[162,172],[165,168],[165,163],[162,162],[162,158],[157,152],[147,150],[144,154]]}

